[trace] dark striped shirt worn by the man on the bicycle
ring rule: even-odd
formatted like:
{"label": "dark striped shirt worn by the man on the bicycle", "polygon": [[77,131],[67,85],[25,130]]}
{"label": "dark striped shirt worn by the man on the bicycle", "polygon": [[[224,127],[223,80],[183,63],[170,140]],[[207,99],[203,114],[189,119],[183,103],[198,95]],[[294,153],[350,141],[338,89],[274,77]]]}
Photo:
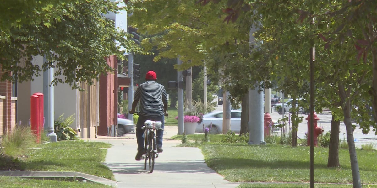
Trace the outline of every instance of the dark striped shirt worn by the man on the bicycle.
{"label": "dark striped shirt worn by the man on the bicycle", "polygon": [[164,103],[167,104],[167,94],[163,85],[148,80],[138,86],[133,97],[140,100],[139,111],[141,115],[160,116],[164,114]]}

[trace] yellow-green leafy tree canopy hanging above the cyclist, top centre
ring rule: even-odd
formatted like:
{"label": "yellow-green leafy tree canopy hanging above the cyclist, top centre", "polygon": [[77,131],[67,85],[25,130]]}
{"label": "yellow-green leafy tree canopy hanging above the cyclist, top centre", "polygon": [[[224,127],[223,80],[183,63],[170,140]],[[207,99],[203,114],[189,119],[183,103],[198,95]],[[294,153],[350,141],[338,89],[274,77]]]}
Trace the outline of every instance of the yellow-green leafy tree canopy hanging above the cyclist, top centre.
{"label": "yellow-green leafy tree canopy hanging above the cyclist, top centre", "polygon": [[[231,71],[232,76],[240,77],[239,68],[241,53],[249,52],[248,44],[248,19],[241,20],[238,24],[227,24],[222,20],[224,16],[218,11],[225,8],[225,4],[212,4],[203,7],[190,0],[186,1],[127,1],[130,12],[130,23],[137,27],[141,33],[148,34],[151,37],[144,38],[141,44],[146,49],[152,49],[156,46],[160,50],[154,61],[159,58],[176,58],[180,55],[183,61],[178,70],[185,70],[192,66],[202,66],[207,62],[208,73],[218,75],[216,71],[219,68]],[[156,9],[155,7],[163,7]],[[172,15],[179,15],[172,16]],[[245,23],[245,24],[244,24]],[[158,35],[157,35],[158,34]],[[242,45],[239,45],[242,44]],[[236,52],[236,51],[239,52]],[[236,54],[239,59],[234,58]],[[214,61],[213,59],[216,59]],[[228,69],[228,62],[236,68]],[[245,64],[245,66],[248,66]],[[247,70],[250,69],[247,67]],[[247,74],[254,75],[254,74]],[[213,82],[219,79],[233,80],[228,74],[211,77]],[[248,76],[244,76],[248,77]],[[241,82],[242,81],[242,82]],[[222,86],[231,91],[234,100],[239,102],[238,91],[247,93],[244,84],[247,80],[235,79],[232,83],[225,82]],[[235,84],[233,84],[235,83]],[[229,85],[229,87],[227,87]],[[240,89],[241,88],[241,89]],[[237,90],[236,90],[237,89]],[[232,100],[233,101],[233,100]]]}

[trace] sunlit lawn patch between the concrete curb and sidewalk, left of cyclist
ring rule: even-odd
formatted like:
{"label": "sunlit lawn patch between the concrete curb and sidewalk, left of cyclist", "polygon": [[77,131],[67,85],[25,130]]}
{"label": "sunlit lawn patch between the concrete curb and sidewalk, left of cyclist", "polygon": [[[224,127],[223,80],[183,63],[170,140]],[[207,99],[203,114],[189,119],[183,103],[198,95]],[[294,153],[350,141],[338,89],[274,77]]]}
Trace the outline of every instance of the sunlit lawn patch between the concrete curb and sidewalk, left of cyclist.
{"label": "sunlit lawn patch between the concrete curb and sidewalk, left of cyclist", "polygon": [[115,180],[112,171],[102,164],[110,144],[59,141],[31,150],[23,161],[26,170],[76,171]]}

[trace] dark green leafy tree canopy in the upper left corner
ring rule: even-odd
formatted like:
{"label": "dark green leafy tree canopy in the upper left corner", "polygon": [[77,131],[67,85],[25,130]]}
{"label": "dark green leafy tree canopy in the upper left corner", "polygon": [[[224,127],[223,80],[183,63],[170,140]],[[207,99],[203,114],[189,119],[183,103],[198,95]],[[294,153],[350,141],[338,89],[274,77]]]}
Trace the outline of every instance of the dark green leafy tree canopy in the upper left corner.
{"label": "dark green leafy tree canopy in the upper left corner", "polygon": [[[117,31],[113,21],[103,17],[121,9],[115,2],[51,2],[55,4],[41,6],[41,9],[25,15],[25,20],[35,18],[37,21],[21,21],[9,27],[9,35],[1,40],[1,67],[5,73],[2,80],[32,80],[33,76],[40,76],[41,71],[54,67],[53,84],[69,83],[72,88],[80,88],[77,83],[92,83],[101,73],[112,71],[104,57],[123,56],[114,40],[128,50],[140,52],[132,41],[125,38],[128,33]],[[39,7],[38,4],[36,8]],[[35,17],[40,14],[49,19]],[[43,67],[33,64],[33,57],[37,55],[45,56],[54,64],[46,63]]]}

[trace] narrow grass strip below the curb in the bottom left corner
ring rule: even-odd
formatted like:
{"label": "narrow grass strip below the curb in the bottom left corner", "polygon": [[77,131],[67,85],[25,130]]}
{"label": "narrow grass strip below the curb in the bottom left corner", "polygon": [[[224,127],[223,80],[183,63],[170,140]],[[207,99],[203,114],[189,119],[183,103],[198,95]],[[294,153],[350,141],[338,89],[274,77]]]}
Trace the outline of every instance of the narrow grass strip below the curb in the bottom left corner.
{"label": "narrow grass strip below the curb in the bottom left corner", "polygon": [[35,188],[35,187],[54,187],[54,188],[110,188],[111,186],[92,182],[64,181],[64,180],[43,180],[20,177],[0,176],[2,188]]}

